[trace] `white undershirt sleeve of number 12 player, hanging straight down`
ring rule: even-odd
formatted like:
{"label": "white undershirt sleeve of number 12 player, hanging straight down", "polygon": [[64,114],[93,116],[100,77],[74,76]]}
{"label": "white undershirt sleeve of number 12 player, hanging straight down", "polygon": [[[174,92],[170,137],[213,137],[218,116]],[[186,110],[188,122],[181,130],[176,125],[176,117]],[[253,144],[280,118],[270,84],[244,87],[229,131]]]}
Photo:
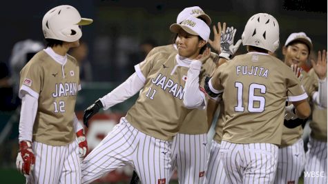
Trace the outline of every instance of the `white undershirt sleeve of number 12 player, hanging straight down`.
{"label": "white undershirt sleeve of number 12 player, hanging straight down", "polygon": [[21,98],[21,118],[19,119],[19,141],[32,141],[32,130],[37,115],[37,98],[24,92]]}

